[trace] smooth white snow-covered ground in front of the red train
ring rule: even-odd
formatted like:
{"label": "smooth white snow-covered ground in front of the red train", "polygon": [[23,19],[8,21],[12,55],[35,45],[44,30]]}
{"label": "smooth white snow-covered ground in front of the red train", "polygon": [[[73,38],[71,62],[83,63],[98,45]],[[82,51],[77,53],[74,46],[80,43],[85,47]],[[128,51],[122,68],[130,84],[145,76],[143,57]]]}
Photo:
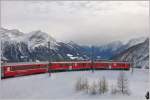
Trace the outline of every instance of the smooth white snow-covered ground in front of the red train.
{"label": "smooth white snow-covered ground in front of the red train", "polygon": [[[76,92],[75,83],[79,77],[86,77],[90,82],[105,76],[109,87],[116,84],[120,71],[100,70],[62,72],[30,75],[17,78],[9,78],[0,82],[0,99],[97,99],[97,100],[145,100],[148,90],[148,70],[136,69],[133,74],[125,71],[128,76],[130,96],[112,95],[90,95],[85,92]],[[110,89],[110,88],[109,88]]]}

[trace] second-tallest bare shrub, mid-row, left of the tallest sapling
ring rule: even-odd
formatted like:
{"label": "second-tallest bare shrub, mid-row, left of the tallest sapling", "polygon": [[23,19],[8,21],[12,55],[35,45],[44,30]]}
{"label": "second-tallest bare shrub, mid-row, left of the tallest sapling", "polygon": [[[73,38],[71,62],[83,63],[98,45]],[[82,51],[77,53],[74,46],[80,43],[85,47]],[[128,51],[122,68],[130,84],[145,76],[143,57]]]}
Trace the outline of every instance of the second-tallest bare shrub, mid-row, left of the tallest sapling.
{"label": "second-tallest bare shrub, mid-row, left of the tallest sapling", "polygon": [[104,93],[108,92],[108,83],[107,83],[105,77],[103,77],[102,79],[99,80],[98,91],[100,94],[104,94]]}

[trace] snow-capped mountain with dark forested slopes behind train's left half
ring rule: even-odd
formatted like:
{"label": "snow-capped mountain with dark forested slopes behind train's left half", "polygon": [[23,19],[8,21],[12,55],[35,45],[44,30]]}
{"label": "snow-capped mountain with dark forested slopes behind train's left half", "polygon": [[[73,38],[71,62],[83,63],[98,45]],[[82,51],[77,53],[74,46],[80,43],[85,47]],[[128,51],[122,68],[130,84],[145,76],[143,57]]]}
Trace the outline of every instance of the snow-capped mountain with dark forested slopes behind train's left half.
{"label": "snow-capped mountain with dark forested slopes behind train's left half", "polygon": [[[20,61],[46,61],[53,60],[88,59],[82,54],[80,46],[75,43],[62,43],[40,30],[22,33],[18,30],[0,28],[1,32],[1,58],[9,62]],[[48,48],[50,41],[50,48]],[[49,50],[50,49],[50,50]]]}

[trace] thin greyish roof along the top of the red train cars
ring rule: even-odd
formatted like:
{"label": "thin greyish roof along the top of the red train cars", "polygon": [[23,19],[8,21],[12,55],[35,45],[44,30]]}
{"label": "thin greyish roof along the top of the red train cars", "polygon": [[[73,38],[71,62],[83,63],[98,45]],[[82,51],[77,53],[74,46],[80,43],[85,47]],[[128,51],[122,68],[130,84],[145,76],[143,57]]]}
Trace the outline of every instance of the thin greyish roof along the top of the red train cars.
{"label": "thin greyish roof along the top of the red train cars", "polygon": [[[94,61],[95,63],[130,63],[123,61]],[[31,64],[48,64],[49,62],[13,62],[13,63],[3,63],[2,66],[15,66],[15,65],[31,65]],[[51,62],[51,63],[91,63],[91,61],[60,61],[60,62]]]}

